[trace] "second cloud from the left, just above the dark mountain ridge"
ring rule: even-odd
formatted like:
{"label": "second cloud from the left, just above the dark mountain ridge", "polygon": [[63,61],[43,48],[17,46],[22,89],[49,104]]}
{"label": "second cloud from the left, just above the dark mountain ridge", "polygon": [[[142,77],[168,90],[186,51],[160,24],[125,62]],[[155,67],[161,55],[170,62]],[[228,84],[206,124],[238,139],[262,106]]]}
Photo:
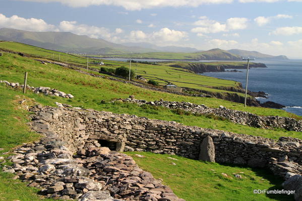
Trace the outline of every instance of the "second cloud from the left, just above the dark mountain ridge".
{"label": "second cloud from the left, just above the dark mountain ridge", "polygon": [[87,35],[91,38],[105,38],[110,39],[110,32],[103,27],[88,26],[85,24],[77,24],[76,21],[62,21],[59,24],[61,31],[69,31],[79,35]]}

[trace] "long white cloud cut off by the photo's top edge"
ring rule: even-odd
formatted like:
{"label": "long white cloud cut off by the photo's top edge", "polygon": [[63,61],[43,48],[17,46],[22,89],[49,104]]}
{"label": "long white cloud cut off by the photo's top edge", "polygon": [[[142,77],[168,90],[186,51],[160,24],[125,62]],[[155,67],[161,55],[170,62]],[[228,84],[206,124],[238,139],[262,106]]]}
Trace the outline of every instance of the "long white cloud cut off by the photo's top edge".
{"label": "long white cloud cut off by the photo's top edge", "polygon": [[120,6],[126,10],[141,10],[161,7],[198,7],[204,4],[230,4],[233,0],[156,0],[156,1],[142,1],[142,0],[19,0],[27,2],[50,3],[58,2],[69,7],[89,7],[89,6]]}

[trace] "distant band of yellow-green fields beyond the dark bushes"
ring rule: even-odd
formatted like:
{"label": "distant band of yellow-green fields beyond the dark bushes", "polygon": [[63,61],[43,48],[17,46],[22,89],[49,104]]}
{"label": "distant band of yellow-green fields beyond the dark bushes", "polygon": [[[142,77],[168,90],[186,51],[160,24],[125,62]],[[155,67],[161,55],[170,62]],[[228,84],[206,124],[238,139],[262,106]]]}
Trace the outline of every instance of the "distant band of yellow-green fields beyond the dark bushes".
{"label": "distant band of yellow-green fields beyond the dark bushes", "polygon": [[[59,59],[59,52],[46,50],[43,48],[26,45],[17,42],[0,42],[0,48],[10,49],[13,51],[24,52],[36,57],[43,57],[47,59],[54,60]],[[66,53],[61,52],[61,61],[66,61]],[[105,62],[105,67],[115,69],[120,66],[128,66],[129,63],[122,61],[111,61],[111,60],[103,60]],[[81,56],[68,54],[67,62],[76,63],[86,66],[87,59]],[[90,62],[100,62],[100,60],[90,59]],[[100,65],[89,64],[91,68],[99,69]],[[222,80],[217,78],[211,78],[207,76],[201,76],[185,71],[179,71],[179,68],[173,68],[171,66],[166,65],[150,65],[150,64],[142,64],[142,63],[134,63],[132,68],[138,75],[144,76],[146,79],[156,80],[160,85],[165,85],[167,82],[172,82],[179,87],[189,87],[200,90],[205,90],[209,92],[218,92],[218,93],[235,93],[224,90],[213,89],[212,87],[238,87],[239,83],[230,80]],[[165,81],[163,81],[165,80]],[[241,93],[237,93],[240,96],[243,96]]]}

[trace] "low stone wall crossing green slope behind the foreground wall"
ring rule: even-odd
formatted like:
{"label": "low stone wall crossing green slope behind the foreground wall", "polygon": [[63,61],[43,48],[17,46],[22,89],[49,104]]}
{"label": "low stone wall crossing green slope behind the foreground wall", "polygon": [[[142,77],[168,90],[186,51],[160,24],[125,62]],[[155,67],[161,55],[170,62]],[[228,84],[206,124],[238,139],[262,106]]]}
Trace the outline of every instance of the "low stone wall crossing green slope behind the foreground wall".
{"label": "low stone wall crossing green slope behind the foreground wall", "polygon": [[284,128],[286,130],[302,131],[302,121],[288,117],[280,116],[258,116],[249,112],[226,109],[223,106],[219,108],[210,108],[205,105],[196,105],[190,102],[170,102],[170,101],[146,101],[133,98],[122,99],[124,102],[132,102],[138,105],[148,104],[162,106],[169,109],[183,109],[192,113],[214,114],[241,125],[249,125],[258,128]]}

